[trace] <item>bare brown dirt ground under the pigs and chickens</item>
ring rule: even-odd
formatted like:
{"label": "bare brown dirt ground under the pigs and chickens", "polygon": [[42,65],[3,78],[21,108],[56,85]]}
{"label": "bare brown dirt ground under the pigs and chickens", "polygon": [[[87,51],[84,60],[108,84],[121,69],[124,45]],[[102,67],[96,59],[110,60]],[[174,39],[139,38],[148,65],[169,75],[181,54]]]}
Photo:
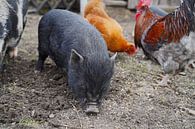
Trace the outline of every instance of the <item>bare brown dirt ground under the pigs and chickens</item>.
{"label": "bare brown dirt ground under the pigs and chickens", "polygon": [[[134,14],[107,8],[133,41]],[[1,75],[0,129],[195,129],[195,74],[169,75],[161,84],[160,67],[136,56],[119,54],[111,88],[97,116],[87,116],[54,63],[35,74],[37,25],[29,15],[19,56]]]}

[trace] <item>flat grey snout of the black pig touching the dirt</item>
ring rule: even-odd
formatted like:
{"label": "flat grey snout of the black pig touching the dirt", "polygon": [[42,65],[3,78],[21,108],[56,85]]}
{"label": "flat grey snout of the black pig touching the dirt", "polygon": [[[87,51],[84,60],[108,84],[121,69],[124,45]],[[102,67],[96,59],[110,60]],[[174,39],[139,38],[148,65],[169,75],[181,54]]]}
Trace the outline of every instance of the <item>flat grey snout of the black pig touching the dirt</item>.
{"label": "flat grey snout of the black pig touching the dirt", "polygon": [[87,114],[97,114],[99,113],[99,106],[96,102],[90,102],[87,104],[87,108],[85,110]]}

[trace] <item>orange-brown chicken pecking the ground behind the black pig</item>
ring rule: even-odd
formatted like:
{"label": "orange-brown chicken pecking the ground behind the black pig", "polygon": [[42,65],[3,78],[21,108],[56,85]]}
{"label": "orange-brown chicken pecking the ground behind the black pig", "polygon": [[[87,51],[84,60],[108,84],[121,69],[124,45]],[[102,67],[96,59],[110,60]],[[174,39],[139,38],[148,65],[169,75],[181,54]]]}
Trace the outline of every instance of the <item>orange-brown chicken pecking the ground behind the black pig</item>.
{"label": "orange-brown chicken pecking the ground behind the black pig", "polygon": [[136,52],[135,45],[125,39],[119,23],[109,17],[104,10],[102,0],[90,0],[85,7],[84,17],[101,32],[108,50],[126,52],[129,55]]}

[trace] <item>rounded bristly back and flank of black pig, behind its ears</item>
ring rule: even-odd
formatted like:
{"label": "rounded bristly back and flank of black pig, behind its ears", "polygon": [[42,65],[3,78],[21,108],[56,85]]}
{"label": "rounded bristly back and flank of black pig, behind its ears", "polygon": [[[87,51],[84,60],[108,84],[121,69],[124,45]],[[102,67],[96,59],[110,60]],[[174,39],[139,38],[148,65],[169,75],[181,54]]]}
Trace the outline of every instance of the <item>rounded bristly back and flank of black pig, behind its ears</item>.
{"label": "rounded bristly back and flank of black pig, behind its ears", "polygon": [[69,11],[54,9],[44,15],[39,24],[39,36],[43,42],[47,40],[48,54],[59,67],[67,68],[71,49],[84,57],[94,55],[94,58],[99,58],[97,60],[109,58],[99,31],[81,16]]}

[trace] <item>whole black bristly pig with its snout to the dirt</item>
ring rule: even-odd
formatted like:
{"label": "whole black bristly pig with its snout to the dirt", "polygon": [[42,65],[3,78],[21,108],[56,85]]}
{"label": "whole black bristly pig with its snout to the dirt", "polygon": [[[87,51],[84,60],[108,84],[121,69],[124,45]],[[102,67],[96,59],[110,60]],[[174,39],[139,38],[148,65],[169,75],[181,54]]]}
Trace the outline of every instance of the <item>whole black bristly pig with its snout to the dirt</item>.
{"label": "whole black bristly pig with its snout to the dirt", "polygon": [[68,85],[86,107],[86,113],[98,113],[102,97],[109,88],[116,54],[108,55],[101,34],[84,18],[65,10],[51,10],[39,23],[39,59],[41,71],[49,56],[66,70]]}

